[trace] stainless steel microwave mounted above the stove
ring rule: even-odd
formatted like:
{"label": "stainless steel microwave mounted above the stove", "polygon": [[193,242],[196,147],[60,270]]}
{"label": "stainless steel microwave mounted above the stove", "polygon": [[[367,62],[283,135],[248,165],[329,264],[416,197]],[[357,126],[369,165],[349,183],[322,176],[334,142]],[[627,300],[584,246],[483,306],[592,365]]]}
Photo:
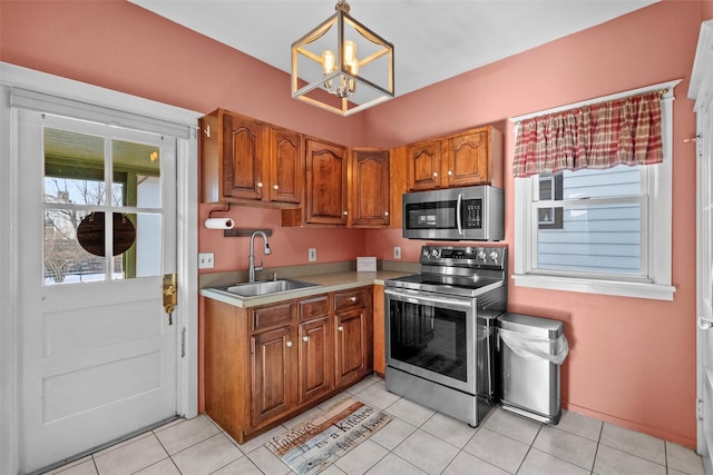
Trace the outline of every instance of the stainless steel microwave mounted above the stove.
{"label": "stainless steel microwave mounted above the stove", "polygon": [[502,240],[505,197],[488,185],[407,192],[403,237],[432,240]]}

